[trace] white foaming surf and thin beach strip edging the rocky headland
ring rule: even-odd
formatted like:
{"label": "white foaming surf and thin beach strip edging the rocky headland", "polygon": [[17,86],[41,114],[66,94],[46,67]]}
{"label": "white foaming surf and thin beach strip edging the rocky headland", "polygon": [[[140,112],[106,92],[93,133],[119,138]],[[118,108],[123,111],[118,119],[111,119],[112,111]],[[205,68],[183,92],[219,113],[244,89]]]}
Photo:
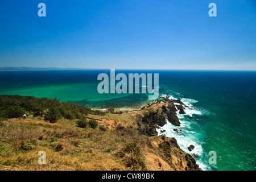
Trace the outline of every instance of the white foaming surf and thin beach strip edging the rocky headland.
{"label": "white foaming surf and thin beach strip edging the rocky headland", "polygon": [[[201,143],[195,142],[193,139],[189,139],[191,136],[195,135],[194,131],[188,130],[184,126],[190,125],[189,121],[182,121],[184,118],[184,115],[189,115],[189,117],[193,117],[193,114],[196,115],[203,115],[199,110],[196,110],[193,107],[193,104],[196,103],[197,101],[192,100],[192,99],[181,99],[182,101],[178,100],[177,98],[174,98],[170,96],[169,94],[160,94],[159,98],[157,100],[153,100],[150,102],[147,102],[146,104],[140,106],[140,107],[121,107],[121,108],[116,108],[114,109],[115,113],[119,113],[120,111],[122,113],[127,113],[127,112],[133,112],[133,111],[141,111],[146,107],[149,107],[151,105],[154,105],[155,103],[159,101],[176,101],[174,102],[175,109],[176,109],[176,116],[178,118],[177,123],[180,123],[181,126],[168,122],[168,119],[166,119],[166,124],[163,126],[157,126],[156,127],[156,135],[161,136],[165,135],[167,137],[173,137],[177,139],[177,144],[179,147],[185,151],[187,154],[192,155],[195,159],[197,159],[197,162],[199,163],[199,166],[204,169],[204,170],[209,170],[209,166],[205,164],[202,160],[199,160],[199,156],[203,155],[203,147],[201,146]],[[106,109],[105,111],[108,111]],[[174,117],[174,116],[172,116]],[[157,122],[156,122],[157,123]],[[168,132],[166,130],[169,130]],[[185,137],[184,133],[189,133],[190,136]]]}

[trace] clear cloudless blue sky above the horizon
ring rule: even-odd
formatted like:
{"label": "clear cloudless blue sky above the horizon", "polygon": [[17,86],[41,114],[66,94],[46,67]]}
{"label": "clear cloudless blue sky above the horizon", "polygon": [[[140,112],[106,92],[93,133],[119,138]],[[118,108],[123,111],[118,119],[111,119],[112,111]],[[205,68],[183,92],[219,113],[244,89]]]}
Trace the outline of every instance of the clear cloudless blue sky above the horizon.
{"label": "clear cloudless blue sky above the horizon", "polygon": [[256,70],[256,2],[0,0],[0,67],[22,66]]}

